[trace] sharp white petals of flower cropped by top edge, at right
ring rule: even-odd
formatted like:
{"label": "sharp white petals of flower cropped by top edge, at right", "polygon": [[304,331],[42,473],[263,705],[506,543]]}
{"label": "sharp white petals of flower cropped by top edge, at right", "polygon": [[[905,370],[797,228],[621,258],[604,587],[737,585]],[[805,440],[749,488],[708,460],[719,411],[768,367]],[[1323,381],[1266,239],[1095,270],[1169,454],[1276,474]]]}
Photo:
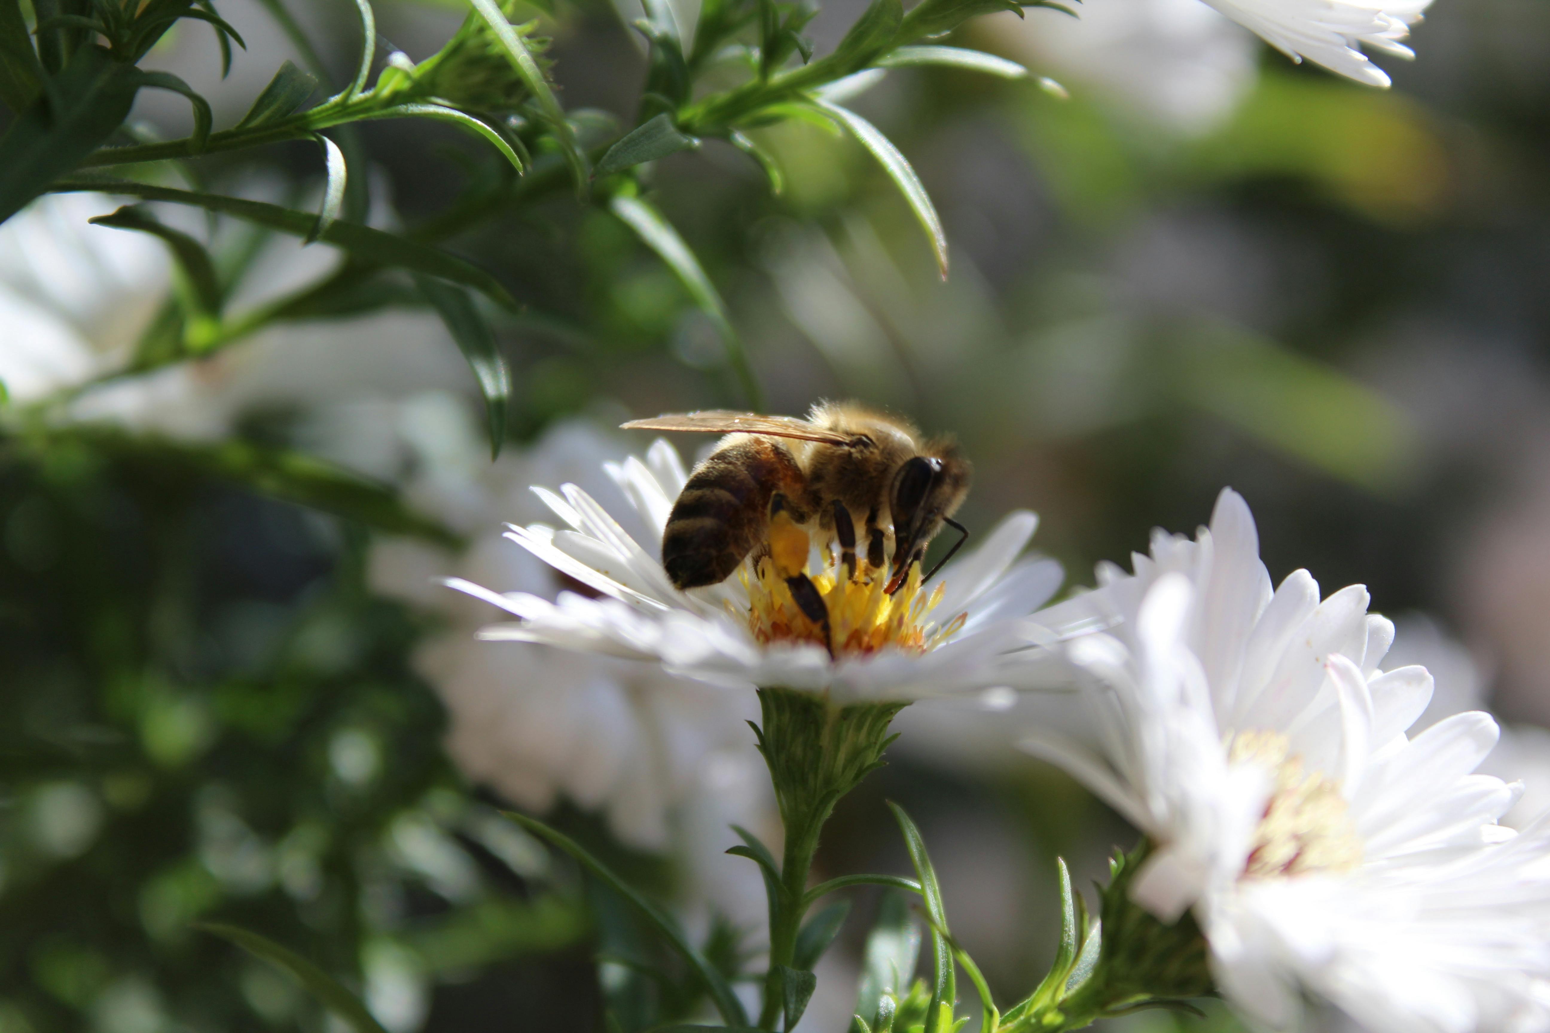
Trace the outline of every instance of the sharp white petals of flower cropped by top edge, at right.
{"label": "sharp white petals of flower cropped by top edge, at right", "polygon": [[1404,45],[1431,0],[1206,0],[1296,62],[1387,87],[1389,76],[1361,48],[1414,57]]}

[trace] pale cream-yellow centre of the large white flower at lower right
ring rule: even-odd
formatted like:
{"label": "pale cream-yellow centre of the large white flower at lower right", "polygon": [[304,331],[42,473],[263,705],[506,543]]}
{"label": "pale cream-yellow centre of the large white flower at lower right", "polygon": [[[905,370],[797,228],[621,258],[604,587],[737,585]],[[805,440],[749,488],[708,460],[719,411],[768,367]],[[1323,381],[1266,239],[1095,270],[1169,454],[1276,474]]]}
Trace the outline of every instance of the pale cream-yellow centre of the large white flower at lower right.
{"label": "pale cream-yellow centre of the large white flower at lower right", "polygon": [[1228,756],[1234,764],[1262,764],[1276,776],[1242,878],[1345,872],[1361,864],[1362,843],[1339,782],[1304,771],[1286,736],[1242,731]]}

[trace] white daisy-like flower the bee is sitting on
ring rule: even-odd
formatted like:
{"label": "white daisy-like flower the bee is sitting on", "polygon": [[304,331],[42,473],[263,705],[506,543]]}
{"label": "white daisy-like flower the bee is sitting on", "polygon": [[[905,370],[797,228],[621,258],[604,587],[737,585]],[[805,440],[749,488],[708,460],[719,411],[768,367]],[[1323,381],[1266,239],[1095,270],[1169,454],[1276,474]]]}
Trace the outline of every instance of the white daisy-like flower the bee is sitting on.
{"label": "white daisy-like flower the bee is sitting on", "polygon": [[894,593],[884,571],[860,561],[845,576],[840,556],[812,548],[808,573],[823,596],[834,655],[818,624],[794,602],[769,562],[746,561],[727,581],[680,592],[662,568],[660,542],[673,500],[688,479],[663,440],[645,458],[606,466],[643,525],[629,534],[577,485],[535,488],[561,527],[508,527],[507,537],[592,593],[549,601],[498,593],[467,579],[448,584],[519,618],[480,632],[660,664],[670,674],[727,688],[828,692],[839,703],[914,700],[989,688],[1020,688],[1026,618],[1060,585],[1059,564],[1018,559],[1038,520],[1014,513],[983,545],[922,585],[919,565]]}

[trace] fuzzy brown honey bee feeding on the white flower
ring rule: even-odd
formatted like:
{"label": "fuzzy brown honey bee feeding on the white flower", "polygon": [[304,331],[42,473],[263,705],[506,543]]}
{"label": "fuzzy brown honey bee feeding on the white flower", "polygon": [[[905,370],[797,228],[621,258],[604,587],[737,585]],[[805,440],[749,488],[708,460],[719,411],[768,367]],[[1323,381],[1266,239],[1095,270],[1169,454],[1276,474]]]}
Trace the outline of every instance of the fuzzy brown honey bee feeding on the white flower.
{"label": "fuzzy brown honey bee feeding on the white flower", "polygon": [[[944,525],[959,539],[925,578],[969,537],[952,519],[970,475],[958,446],[925,440],[904,420],[856,403],[820,403],[806,420],[716,409],[623,426],[727,435],[690,474],[668,516],[662,565],[679,589],[719,584],[750,553],[770,548],[772,520],[815,520],[826,541],[839,541],[851,578],[857,575],[856,528],[865,528],[868,567],[880,573],[893,564],[890,595]],[[800,562],[780,564],[787,567],[781,575],[808,616],[826,626],[823,599],[801,573],[806,545],[800,551]]]}

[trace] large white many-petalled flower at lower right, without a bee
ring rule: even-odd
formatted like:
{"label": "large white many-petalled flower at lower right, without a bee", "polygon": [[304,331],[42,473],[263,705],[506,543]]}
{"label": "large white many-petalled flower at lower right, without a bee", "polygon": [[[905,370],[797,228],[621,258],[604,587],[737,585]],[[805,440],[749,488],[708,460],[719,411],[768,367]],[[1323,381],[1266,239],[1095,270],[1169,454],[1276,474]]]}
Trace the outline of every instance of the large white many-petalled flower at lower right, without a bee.
{"label": "large white many-petalled flower at lower right, without a bee", "polygon": [[1432,678],[1380,669],[1393,626],[1366,589],[1273,592],[1231,491],[1099,582],[1042,619],[1110,624],[1060,647],[1100,750],[1026,745],[1145,833],[1132,897],[1194,909],[1238,1008],[1286,1027],[1308,990],[1370,1030],[1550,1027],[1550,825],[1497,824],[1521,787],[1474,774],[1486,714],[1404,734]]}

